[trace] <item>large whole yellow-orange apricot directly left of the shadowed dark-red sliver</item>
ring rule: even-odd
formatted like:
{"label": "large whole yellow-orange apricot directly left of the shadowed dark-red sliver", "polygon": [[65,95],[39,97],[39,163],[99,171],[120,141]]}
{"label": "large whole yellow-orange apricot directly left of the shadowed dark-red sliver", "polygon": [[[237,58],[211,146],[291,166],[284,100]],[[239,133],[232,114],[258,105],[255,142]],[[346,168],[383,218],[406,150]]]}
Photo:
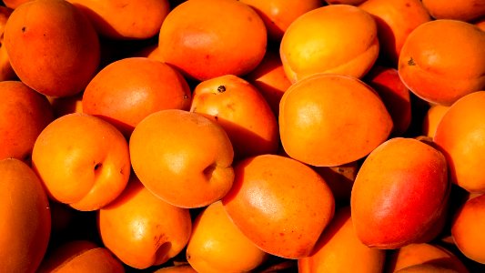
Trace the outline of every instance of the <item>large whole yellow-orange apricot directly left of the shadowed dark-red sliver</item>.
{"label": "large whole yellow-orange apricot directly left of the shadowed dark-red sliver", "polygon": [[279,105],[285,151],[313,166],[338,166],[367,156],[388,138],[392,126],[377,93],[353,76],[309,76],[290,86]]}

